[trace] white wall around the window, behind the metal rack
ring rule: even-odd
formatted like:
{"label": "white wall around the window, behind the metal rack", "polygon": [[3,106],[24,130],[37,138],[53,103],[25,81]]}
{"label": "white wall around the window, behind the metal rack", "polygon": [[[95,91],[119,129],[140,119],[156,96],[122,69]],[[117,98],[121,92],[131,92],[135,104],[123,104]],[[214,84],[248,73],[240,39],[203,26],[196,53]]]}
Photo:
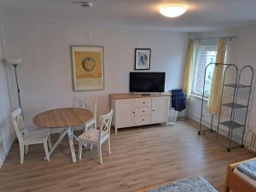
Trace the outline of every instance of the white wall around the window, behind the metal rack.
{"label": "white wall around the window, behind the metal rack", "polygon": [[[192,38],[210,38],[210,37],[226,37],[236,36],[237,38],[232,39],[230,42],[230,63],[236,64],[240,69],[245,65],[252,65],[256,72],[256,26],[243,26],[234,28],[230,31],[224,32],[203,32],[194,33]],[[255,97],[255,78],[253,80],[253,94],[251,98],[251,104],[249,109],[249,115],[247,118],[247,130],[256,130],[256,97]],[[194,119],[199,119],[201,114],[201,100],[195,96],[191,96],[190,102],[191,108],[189,109],[190,116]],[[204,120],[205,123],[210,122],[210,114],[204,109]],[[215,121],[217,122],[217,121]],[[216,125],[216,123],[215,123]]]}

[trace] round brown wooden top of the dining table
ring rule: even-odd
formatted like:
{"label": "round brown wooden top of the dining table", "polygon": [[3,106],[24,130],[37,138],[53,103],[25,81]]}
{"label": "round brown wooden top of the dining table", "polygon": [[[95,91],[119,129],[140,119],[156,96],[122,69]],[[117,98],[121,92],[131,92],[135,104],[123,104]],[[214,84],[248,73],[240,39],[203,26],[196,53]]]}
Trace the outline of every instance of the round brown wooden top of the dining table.
{"label": "round brown wooden top of the dining table", "polygon": [[93,113],[84,108],[56,108],[39,113],[33,123],[45,128],[60,128],[81,125],[93,117]]}

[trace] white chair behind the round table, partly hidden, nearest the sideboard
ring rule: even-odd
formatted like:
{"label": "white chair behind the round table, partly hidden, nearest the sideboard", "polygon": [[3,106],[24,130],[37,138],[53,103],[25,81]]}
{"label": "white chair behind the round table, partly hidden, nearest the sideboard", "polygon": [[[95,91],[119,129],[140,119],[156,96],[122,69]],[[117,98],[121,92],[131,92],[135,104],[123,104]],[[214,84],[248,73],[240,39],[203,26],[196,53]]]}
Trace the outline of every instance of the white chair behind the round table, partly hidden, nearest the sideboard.
{"label": "white chair behind the round table, partly hidden, nearest the sideboard", "polygon": [[89,103],[86,102],[86,100],[78,97],[73,97],[73,107],[76,108],[86,108],[90,111],[92,111],[93,118],[90,119],[88,122],[85,122],[84,125],[82,126],[76,126],[73,128],[74,131],[79,131],[79,130],[89,130],[91,125],[94,125],[94,128],[96,128],[96,115],[97,115],[97,104],[98,104],[98,97],[95,97],[95,102],[93,108],[90,107]]}

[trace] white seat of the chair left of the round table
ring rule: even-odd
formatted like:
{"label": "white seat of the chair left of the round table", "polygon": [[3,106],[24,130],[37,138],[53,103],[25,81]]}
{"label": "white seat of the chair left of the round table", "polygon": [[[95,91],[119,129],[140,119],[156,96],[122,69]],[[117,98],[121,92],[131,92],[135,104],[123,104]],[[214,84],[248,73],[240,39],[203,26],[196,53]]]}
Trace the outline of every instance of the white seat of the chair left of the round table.
{"label": "white seat of the chair left of the round table", "polygon": [[32,131],[23,136],[25,144],[43,143],[49,136],[49,130]]}

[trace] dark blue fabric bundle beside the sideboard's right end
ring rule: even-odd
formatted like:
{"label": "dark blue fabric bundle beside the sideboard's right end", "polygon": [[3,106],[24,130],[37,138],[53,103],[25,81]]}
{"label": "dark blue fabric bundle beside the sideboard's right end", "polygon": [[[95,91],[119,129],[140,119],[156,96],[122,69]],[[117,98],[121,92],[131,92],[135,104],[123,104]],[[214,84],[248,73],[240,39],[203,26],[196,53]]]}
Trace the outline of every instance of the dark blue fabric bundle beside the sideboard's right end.
{"label": "dark blue fabric bundle beside the sideboard's right end", "polygon": [[186,96],[182,89],[172,90],[172,108],[183,111],[186,108]]}

